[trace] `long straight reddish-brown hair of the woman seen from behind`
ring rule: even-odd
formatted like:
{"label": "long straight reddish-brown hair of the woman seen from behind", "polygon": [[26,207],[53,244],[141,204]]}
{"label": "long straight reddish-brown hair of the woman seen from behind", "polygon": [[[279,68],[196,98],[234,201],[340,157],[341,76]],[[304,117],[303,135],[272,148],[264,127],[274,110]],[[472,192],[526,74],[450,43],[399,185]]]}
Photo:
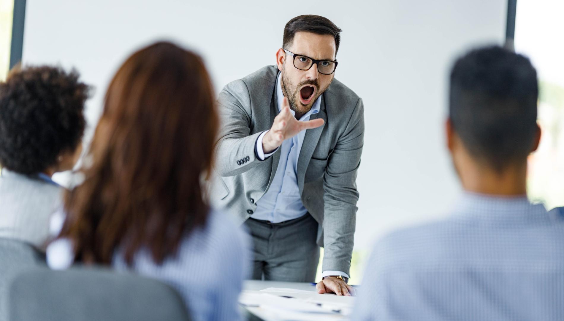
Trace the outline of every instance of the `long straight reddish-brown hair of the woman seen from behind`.
{"label": "long straight reddish-brown hair of the woman seen from behind", "polygon": [[[156,263],[203,226],[218,118],[202,59],[169,42],[134,53],[113,77],[83,173],[65,196],[59,237],[75,260],[128,264],[146,248]],[[90,164],[89,164],[90,163]]]}

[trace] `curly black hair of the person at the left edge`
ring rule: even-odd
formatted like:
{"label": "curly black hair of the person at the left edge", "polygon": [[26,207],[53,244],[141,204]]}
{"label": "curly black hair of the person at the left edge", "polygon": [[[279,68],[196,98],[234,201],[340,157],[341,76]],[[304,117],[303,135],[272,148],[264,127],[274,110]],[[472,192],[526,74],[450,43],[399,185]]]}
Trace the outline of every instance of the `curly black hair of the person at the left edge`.
{"label": "curly black hair of the person at the left edge", "polygon": [[34,175],[80,144],[90,86],[78,72],[37,66],[14,70],[0,83],[0,164]]}

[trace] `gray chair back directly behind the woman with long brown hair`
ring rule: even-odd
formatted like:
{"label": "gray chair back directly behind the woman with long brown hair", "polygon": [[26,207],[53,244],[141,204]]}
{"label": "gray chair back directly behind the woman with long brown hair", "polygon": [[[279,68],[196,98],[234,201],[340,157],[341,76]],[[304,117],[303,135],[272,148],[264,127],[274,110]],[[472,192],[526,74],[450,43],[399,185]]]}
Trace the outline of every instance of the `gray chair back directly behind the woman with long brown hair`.
{"label": "gray chair back directly behind the woman with long brown hair", "polygon": [[173,288],[106,268],[24,271],[12,279],[7,305],[18,321],[190,320]]}

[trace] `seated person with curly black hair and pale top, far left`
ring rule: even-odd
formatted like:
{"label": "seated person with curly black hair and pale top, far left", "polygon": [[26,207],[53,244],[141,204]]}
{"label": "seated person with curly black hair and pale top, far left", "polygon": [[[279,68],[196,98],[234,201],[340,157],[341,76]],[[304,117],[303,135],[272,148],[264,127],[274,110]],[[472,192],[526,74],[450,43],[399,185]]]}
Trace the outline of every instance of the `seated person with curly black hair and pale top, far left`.
{"label": "seated person with curly black hair and pale top, far left", "polygon": [[0,237],[42,249],[62,188],[82,150],[89,86],[60,67],[16,69],[0,83]]}

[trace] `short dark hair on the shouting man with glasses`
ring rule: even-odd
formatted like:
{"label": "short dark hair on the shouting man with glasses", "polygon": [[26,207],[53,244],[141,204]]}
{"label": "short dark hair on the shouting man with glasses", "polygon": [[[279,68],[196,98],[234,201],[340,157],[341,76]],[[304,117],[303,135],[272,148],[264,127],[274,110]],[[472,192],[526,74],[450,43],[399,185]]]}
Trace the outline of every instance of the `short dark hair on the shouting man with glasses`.
{"label": "short dark hair on the shouting man with glasses", "polygon": [[288,21],[284,27],[284,37],[282,38],[282,47],[288,49],[292,45],[296,32],[307,31],[317,34],[331,34],[335,38],[335,56],[339,51],[339,43],[341,42],[341,28],[337,27],[331,20],[316,15],[301,15]]}

